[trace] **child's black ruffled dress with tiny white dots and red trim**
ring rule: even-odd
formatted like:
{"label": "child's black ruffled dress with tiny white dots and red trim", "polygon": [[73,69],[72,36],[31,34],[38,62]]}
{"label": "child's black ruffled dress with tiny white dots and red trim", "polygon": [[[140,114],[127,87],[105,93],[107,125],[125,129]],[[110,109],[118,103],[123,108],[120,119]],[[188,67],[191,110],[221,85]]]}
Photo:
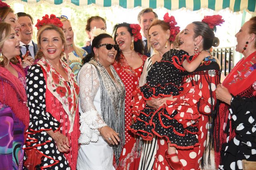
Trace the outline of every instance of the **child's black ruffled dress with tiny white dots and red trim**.
{"label": "child's black ruffled dress with tiny white dots and red trim", "polygon": [[[173,56],[177,56],[181,61],[184,54],[186,54],[185,51],[175,49],[166,52],[160,62],[152,65],[147,75],[147,83],[136,90],[138,94],[144,100],[178,95],[183,90],[180,87],[183,73],[173,64],[173,60],[179,63]],[[137,114],[136,122],[129,129],[142,136],[144,140],[152,140],[154,134],[160,138],[165,137],[172,146],[180,149],[199,145],[196,125],[184,128],[183,124],[174,118],[177,113],[177,111],[168,113],[165,106],[156,110],[146,104],[144,109]]]}

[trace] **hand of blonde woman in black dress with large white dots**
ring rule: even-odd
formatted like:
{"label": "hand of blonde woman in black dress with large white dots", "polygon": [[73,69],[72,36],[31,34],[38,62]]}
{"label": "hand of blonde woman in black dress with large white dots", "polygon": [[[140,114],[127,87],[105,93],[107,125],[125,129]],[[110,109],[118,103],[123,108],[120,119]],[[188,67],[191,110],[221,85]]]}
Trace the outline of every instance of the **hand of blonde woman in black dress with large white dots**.
{"label": "hand of blonde woman in black dress with large white dots", "polygon": [[66,153],[70,151],[69,139],[59,131],[53,133],[52,138],[55,140],[58,151]]}

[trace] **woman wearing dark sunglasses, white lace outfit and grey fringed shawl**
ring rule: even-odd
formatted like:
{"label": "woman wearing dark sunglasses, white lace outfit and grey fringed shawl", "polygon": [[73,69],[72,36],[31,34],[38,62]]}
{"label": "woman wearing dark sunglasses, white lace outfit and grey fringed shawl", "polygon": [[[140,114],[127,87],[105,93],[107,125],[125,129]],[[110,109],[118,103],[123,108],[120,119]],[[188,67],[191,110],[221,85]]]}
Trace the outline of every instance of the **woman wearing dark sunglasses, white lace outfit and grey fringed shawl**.
{"label": "woman wearing dark sunglasses, white lace outfit and grey fringed shawl", "polygon": [[78,73],[80,131],[78,170],[114,170],[125,143],[125,87],[112,64],[118,45],[109,34],[92,40],[92,53]]}

